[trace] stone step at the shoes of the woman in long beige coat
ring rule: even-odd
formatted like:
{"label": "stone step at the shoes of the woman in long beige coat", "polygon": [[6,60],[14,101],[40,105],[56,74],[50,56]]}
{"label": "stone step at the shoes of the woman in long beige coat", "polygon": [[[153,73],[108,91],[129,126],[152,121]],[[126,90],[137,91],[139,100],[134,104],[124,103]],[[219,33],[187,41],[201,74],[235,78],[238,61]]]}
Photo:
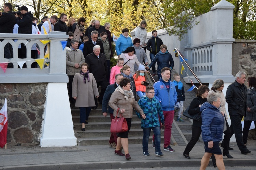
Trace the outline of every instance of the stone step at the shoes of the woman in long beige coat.
{"label": "stone step at the shoes of the woman in long beige coat", "polygon": [[[141,128],[141,121],[132,121],[131,122],[131,129],[140,129]],[[85,129],[89,130],[102,130],[102,129],[110,129],[111,122],[89,122],[88,124],[85,124]],[[73,123],[74,130],[81,131],[82,124],[81,123]]]}

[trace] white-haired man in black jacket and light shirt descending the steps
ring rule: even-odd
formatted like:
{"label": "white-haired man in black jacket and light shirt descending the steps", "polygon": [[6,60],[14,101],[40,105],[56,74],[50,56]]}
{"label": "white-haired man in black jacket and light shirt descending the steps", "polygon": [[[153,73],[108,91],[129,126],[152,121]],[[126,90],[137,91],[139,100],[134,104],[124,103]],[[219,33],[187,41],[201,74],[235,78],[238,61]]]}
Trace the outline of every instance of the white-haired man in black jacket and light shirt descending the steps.
{"label": "white-haired man in black jacket and light shirt descending the steps", "polygon": [[[106,87],[108,86],[108,82],[106,79],[108,74],[108,66],[106,64],[105,54],[100,53],[99,45],[93,47],[93,53],[86,56],[85,63],[87,63],[89,66],[89,72],[93,73],[93,76],[97,82],[97,87],[101,85],[100,97],[98,98],[101,104],[104,92],[106,91]],[[95,105],[96,106],[93,107],[93,109],[97,109],[98,107],[97,98],[95,98]]]}

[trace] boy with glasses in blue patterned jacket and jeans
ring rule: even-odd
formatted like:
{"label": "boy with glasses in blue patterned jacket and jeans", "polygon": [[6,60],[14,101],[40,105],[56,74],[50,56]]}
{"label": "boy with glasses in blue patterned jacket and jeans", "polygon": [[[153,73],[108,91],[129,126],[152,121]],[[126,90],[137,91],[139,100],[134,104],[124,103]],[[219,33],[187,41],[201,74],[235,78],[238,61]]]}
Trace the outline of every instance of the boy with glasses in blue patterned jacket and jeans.
{"label": "boy with glasses in blue patterned jacket and jeans", "polygon": [[[155,135],[155,154],[157,156],[163,155],[160,149],[160,125],[164,124],[163,111],[161,104],[154,97],[154,95],[154,87],[147,87],[146,97],[142,97],[138,102],[146,115],[145,119],[141,119],[141,128],[143,129],[142,149],[144,156],[150,156],[148,152],[148,139],[150,137],[151,129],[153,130],[153,133]],[[140,113],[136,112],[136,114],[139,118],[141,118]],[[161,119],[161,123],[159,122],[159,117]]]}

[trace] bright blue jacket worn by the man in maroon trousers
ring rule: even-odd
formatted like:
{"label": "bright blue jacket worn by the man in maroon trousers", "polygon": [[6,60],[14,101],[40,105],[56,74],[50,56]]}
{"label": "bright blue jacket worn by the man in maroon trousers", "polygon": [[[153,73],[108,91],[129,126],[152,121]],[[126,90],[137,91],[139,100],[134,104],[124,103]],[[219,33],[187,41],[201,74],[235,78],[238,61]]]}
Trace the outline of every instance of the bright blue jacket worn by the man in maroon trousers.
{"label": "bright blue jacket worn by the man in maroon trousers", "polygon": [[157,81],[153,87],[155,88],[155,97],[160,101],[163,111],[173,111],[174,105],[177,101],[177,92],[173,82],[170,83],[170,91],[168,92],[162,78]]}

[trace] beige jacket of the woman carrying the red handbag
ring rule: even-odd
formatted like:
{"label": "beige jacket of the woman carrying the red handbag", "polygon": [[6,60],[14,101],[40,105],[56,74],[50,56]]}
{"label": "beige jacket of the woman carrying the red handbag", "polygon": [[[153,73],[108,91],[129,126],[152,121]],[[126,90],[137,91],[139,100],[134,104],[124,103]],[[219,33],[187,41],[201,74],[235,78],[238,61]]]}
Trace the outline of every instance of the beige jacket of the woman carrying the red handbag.
{"label": "beige jacket of the woman carrying the red handbag", "polygon": [[[126,100],[124,97],[125,95],[123,95],[119,91],[114,91],[112,93],[109,99],[109,106],[114,109],[114,116],[116,116],[117,108],[125,109],[125,113],[122,114],[125,118],[132,118],[133,108],[140,114],[144,114],[143,110],[140,108],[139,104],[134,98],[128,97],[128,100]],[[120,109],[118,113],[120,113],[121,111]],[[118,114],[118,117],[119,117],[119,114]]]}

